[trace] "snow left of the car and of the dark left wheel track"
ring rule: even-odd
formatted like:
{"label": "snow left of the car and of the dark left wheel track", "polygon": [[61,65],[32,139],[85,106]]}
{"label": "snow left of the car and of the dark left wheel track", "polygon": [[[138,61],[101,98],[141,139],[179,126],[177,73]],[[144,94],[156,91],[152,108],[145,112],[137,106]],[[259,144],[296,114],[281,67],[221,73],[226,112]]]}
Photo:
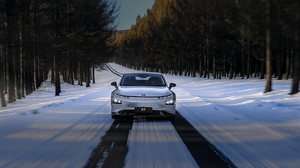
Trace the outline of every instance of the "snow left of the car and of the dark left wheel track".
{"label": "snow left of the car and of the dark left wheel track", "polygon": [[60,96],[47,80],[34,93],[0,108],[0,167],[82,168],[110,128],[110,71],[96,83],[61,85]]}

